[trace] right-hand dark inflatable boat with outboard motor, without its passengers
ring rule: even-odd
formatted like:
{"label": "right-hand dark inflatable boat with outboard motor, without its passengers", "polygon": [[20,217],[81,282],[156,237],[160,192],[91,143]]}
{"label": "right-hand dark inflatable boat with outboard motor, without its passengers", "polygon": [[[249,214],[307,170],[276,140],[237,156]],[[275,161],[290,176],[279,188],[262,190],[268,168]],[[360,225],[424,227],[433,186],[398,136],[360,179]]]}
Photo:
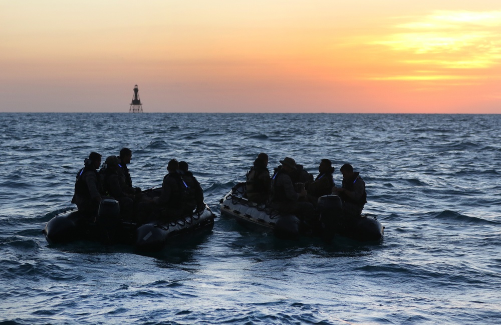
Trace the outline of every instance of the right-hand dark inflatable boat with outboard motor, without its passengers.
{"label": "right-hand dark inflatable boat with outboard motor, without its passengers", "polygon": [[337,195],[321,196],[315,213],[306,220],[293,214],[282,214],[267,204],[249,201],[244,196],[245,183],[236,184],[220,200],[221,215],[236,219],[242,225],[260,231],[271,230],[279,238],[297,239],[302,235],[319,236],[330,241],[335,235],[360,241],[380,240],[383,225],[376,217],[360,215],[345,218]]}

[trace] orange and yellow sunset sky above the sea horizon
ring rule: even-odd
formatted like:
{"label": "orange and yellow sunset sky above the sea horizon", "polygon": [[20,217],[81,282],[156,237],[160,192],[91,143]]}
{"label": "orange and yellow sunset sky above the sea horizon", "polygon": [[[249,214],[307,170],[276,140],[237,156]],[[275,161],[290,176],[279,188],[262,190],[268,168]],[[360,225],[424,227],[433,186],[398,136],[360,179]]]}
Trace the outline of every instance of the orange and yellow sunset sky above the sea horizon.
{"label": "orange and yellow sunset sky above the sea horizon", "polygon": [[0,0],[0,112],[501,113],[499,0]]}

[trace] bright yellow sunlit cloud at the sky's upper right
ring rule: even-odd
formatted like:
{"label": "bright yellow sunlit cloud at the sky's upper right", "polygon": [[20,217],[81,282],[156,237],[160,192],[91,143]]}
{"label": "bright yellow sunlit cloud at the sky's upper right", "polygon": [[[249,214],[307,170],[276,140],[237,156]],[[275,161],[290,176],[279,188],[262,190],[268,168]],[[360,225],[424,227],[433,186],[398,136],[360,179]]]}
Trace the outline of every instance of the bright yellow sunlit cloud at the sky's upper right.
{"label": "bright yellow sunlit cloud at the sky's upper right", "polygon": [[392,33],[370,44],[386,47],[396,55],[398,63],[412,70],[420,67],[437,70],[437,73],[371,79],[477,78],[465,77],[455,70],[490,69],[501,63],[501,11],[434,11],[397,23],[391,30]]}

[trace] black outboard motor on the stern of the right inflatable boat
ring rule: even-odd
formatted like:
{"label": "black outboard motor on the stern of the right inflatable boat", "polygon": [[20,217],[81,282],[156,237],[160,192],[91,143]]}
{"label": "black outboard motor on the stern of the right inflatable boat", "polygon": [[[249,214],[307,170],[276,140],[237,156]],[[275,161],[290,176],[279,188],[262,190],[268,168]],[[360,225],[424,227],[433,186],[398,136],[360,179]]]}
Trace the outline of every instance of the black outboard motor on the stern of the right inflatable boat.
{"label": "black outboard motor on the stern of the right inflatable boat", "polygon": [[324,195],[318,198],[317,211],[320,213],[322,237],[330,241],[334,233],[339,231],[341,224],[343,202],[338,195]]}

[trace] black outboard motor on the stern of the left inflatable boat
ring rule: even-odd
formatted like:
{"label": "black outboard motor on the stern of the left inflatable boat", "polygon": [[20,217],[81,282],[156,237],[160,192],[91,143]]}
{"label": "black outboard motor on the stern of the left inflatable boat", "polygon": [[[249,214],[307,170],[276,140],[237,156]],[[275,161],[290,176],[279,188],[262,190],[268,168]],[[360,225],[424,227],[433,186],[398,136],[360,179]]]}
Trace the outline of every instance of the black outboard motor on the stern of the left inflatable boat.
{"label": "black outboard motor on the stern of the left inflatable boat", "polygon": [[112,243],[115,240],[117,228],[120,226],[120,205],[117,200],[106,198],[101,201],[96,225],[103,243]]}

